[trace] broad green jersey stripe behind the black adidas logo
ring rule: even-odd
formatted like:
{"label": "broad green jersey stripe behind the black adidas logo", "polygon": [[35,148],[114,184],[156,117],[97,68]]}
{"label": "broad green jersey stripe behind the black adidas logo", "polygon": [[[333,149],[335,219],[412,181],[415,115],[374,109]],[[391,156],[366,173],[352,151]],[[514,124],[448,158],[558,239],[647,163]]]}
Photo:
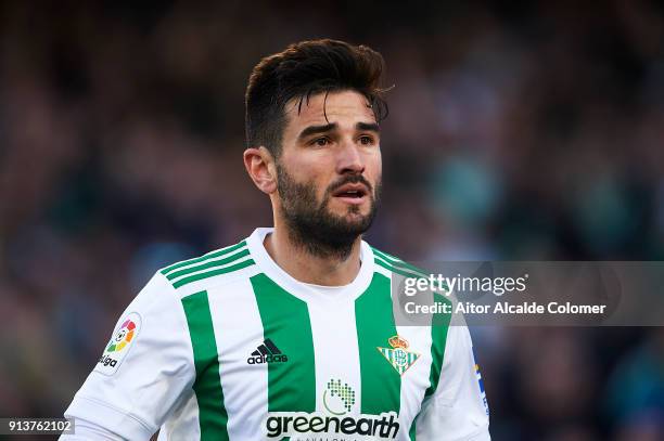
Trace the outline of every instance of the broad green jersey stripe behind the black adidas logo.
{"label": "broad green jersey stripe behind the black adidas logo", "polygon": [[315,412],[314,337],[307,303],[263,273],[251,282],[263,337],[271,339],[288,356],[285,363],[268,364],[268,412]]}

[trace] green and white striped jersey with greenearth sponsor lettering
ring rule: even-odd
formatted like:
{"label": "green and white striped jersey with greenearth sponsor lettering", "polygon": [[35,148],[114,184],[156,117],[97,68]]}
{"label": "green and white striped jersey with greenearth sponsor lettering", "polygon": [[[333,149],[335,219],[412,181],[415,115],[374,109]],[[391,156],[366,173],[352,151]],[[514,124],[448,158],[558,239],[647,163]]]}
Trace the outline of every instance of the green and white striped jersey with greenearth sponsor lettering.
{"label": "green and white striped jersey with greenearth sponsor lettering", "polygon": [[403,261],[361,244],[348,285],[294,280],[271,229],[158,271],[65,415],[129,440],[487,440],[468,328],[399,326]]}

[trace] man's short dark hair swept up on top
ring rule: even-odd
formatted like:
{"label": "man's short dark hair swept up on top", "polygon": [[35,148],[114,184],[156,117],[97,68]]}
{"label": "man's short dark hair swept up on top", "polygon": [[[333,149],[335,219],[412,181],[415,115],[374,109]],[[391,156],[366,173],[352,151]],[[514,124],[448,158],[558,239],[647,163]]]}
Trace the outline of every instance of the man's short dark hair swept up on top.
{"label": "man's short dark hair swept up on top", "polygon": [[363,94],[378,121],[387,116],[380,88],[385,69],[383,56],[366,46],[337,40],[310,40],[289,46],[263,59],[252,70],[245,94],[247,147],[265,145],[281,153],[286,125],[285,104],[312,94],[355,90]]}

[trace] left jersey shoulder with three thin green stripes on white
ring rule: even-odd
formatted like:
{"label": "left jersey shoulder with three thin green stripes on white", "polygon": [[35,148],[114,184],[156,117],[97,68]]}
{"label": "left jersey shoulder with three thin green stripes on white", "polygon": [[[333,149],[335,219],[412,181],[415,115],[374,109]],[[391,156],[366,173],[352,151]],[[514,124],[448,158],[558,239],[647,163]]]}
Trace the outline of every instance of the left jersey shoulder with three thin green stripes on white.
{"label": "left jersey shoulder with three thin green stripes on white", "polygon": [[200,257],[175,262],[157,271],[157,275],[181,297],[254,273],[256,262],[246,239]]}

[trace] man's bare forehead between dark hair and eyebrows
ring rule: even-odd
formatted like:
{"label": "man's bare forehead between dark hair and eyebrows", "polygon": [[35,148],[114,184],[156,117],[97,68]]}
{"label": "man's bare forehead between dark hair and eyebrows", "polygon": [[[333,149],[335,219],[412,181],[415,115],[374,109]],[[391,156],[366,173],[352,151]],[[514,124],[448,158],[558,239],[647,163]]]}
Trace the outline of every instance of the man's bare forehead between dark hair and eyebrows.
{"label": "man's bare forehead between dark hair and eyebrows", "polygon": [[[306,98],[291,100],[286,104],[289,128],[322,126],[330,122],[353,124],[358,121],[375,122],[375,115],[365,95],[356,91],[317,93],[307,101]],[[288,131],[288,129],[286,129]]]}

